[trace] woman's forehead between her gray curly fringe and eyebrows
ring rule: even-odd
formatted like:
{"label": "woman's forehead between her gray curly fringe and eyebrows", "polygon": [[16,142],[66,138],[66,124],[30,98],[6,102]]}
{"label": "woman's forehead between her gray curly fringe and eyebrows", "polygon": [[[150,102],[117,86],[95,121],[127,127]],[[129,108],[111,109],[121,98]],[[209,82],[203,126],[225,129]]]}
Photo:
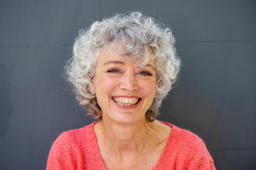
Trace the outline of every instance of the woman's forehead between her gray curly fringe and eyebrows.
{"label": "woman's forehead between her gray curly fringe and eyebrows", "polygon": [[109,61],[119,61],[125,64],[132,62],[137,67],[144,67],[146,64],[152,64],[155,67],[155,59],[151,57],[151,54],[151,50],[148,50],[147,56],[129,55],[122,47],[103,47],[97,54],[97,65],[102,65]]}

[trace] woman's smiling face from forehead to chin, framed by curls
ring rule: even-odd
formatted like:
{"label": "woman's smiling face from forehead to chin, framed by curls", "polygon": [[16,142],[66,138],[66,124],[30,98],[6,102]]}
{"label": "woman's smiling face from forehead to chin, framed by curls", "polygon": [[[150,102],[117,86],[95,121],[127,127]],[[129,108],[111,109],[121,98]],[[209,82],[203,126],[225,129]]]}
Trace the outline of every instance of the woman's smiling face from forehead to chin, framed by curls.
{"label": "woman's smiling face from forehead to chin, framed by curls", "polygon": [[127,60],[122,54],[107,47],[100,50],[90,91],[96,94],[102,120],[137,123],[145,120],[156,96],[156,63],[151,59],[139,67],[142,61]]}

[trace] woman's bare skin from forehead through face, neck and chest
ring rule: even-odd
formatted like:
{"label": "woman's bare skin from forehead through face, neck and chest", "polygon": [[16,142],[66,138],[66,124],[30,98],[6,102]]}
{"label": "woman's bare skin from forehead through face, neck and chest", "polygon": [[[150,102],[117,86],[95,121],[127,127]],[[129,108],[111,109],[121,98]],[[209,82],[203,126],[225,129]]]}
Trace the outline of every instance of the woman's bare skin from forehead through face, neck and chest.
{"label": "woman's bare skin from forehead through face, neck and chest", "polygon": [[116,52],[105,47],[97,59],[90,85],[102,111],[95,124],[97,144],[107,169],[154,169],[171,132],[145,118],[156,96],[156,61],[142,67],[142,60],[125,60],[123,54],[122,47]]}

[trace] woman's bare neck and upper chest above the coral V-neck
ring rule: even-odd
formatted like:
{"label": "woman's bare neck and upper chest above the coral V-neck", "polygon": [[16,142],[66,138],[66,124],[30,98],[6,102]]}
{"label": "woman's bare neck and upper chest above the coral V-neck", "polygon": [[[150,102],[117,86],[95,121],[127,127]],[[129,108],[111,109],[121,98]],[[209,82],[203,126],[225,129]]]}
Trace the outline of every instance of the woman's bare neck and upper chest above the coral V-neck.
{"label": "woman's bare neck and upper chest above the coral V-neck", "polygon": [[[104,120],[104,118],[103,118]],[[171,128],[158,120],[136,125],[100,121],[95,134],[107,169],[154,169],[169,138]]]}

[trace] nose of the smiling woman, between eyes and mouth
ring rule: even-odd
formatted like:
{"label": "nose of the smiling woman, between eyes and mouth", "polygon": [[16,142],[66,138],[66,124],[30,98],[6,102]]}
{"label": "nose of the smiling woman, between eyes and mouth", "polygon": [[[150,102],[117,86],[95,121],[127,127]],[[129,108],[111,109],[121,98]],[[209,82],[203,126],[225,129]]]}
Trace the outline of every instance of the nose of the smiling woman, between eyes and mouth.
{"label": "nose of the smiling woman, between eyes and mouth", "polygon": [[126,91],[135,91],[138,89],[136,74],[133,70],[127,70],[121,77],[120,88]]}

